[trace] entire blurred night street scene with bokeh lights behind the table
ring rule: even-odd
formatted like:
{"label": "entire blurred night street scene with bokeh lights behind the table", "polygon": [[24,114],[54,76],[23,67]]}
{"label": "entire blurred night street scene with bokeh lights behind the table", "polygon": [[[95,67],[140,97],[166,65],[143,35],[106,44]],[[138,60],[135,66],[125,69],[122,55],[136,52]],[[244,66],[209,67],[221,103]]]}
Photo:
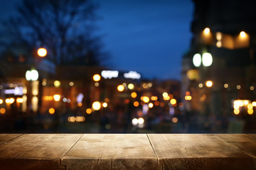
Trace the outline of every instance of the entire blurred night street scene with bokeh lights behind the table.
{"label": "entire blurred night street scene with bokeh lights behind the table", "polygon": [[255,132],[254,8],[2,1],[0,132]]}

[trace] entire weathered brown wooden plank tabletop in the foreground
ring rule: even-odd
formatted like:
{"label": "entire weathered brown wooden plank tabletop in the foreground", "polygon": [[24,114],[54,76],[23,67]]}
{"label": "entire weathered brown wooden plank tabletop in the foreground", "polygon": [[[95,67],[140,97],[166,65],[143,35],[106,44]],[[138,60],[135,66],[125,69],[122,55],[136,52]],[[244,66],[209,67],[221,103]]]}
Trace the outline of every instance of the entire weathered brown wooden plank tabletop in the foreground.
{"label": "entire weathered brown wooden plank tabletop in the foreground", "polygon": [[256,169],[252,134],[0,134],[0,169]]}

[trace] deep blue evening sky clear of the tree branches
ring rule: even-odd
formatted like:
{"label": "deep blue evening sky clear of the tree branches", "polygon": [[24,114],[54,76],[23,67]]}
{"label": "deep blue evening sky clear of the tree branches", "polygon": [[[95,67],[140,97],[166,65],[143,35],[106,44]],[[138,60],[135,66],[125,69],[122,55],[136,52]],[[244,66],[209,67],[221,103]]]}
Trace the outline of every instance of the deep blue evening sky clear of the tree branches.
{"label": "deep blue evening sky clear of the tree branches", "polygon": [[[1,2],[1,18],[17,0]],[[96,0],[95,0],[96,1]],[[181,57],[191,40],[191,0],[97,0],[97,21],[112,69],[134,70],[146,78],[181,79]]]}

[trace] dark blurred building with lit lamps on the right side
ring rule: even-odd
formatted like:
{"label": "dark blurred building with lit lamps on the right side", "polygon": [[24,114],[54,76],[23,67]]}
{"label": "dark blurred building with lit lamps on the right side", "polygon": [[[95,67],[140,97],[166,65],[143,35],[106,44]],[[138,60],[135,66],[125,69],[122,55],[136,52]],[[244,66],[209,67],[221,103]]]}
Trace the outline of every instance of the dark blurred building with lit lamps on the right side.
{"label": "dark blurred building with lit lamps on the right side", "polygon": [[182,62],[181,97],[186,111],[254,116],[255,1],[193,0],[193,4],[193,38]]}

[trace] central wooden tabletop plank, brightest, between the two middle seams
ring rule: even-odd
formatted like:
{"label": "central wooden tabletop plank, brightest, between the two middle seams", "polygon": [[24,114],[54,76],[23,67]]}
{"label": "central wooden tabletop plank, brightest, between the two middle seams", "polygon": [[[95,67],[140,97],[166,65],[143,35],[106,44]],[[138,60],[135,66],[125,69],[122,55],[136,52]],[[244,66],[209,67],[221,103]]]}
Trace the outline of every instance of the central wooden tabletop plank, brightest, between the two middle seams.
{"label": "central wooden tabletop plank, brightest, between the two middle seams", "polygon": [[67,169],[159,169],[145,134],[85,134],[62,164]]}

